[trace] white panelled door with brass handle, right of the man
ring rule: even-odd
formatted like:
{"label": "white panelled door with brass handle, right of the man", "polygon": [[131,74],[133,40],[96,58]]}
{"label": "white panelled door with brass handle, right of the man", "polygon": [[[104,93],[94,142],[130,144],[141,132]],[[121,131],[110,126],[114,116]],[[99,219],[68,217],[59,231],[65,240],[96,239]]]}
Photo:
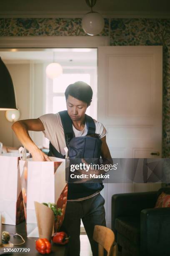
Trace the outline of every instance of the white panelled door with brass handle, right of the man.
{"label": "white panelled door with brass handle, right of the man", "polygon": [[[161,157],[162,70],[162,46],[98,47],[97,120],[108,131],[112,158]],[[107,226],[113,194],[159,187],[105,184]]]}

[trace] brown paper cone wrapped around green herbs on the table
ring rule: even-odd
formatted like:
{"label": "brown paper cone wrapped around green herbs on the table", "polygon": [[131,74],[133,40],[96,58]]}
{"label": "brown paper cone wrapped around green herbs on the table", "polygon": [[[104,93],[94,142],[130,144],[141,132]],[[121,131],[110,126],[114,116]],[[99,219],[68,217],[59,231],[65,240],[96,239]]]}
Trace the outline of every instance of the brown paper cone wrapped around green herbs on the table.
{"label": "brown paper cone wrapped around green herbs on the table", "polygon": [[46,205],[34,202],[39,238],[51,240],[54,227],[54,213]]}

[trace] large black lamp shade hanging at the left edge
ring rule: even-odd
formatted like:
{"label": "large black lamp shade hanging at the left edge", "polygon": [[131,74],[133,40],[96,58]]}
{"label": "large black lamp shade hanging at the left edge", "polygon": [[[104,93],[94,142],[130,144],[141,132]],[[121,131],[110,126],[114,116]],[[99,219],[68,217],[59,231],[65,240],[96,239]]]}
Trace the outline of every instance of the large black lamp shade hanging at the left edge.
{"label": "large black lamp shade hanging at the left edge", "polygon": [[0,58],[0,110],[17,109],[10,73]]}

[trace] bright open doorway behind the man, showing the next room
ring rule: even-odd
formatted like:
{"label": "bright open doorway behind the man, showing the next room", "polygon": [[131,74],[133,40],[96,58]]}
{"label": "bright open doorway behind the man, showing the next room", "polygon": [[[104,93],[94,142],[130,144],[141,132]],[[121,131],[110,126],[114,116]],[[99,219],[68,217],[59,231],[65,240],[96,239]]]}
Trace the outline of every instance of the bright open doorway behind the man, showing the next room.
{"label": "bright open doorway behind the man, showing the next room", "polygon": [[[76,81],[92,87],[93,99],[87,115],[97,119],[97,48],[1,49],[0,56],[13,79],[20,119],[65,110],[65,89]],[[55,79],[48,78],[45,72],[52,62],[59,63],[63,70]],[[13,146],[20,146],[3,112],[0,119],[3,143],[10,146],[13,137]],[[48,148],[49,141],[42,133],[30,132],[30,136],[38,146]]]}

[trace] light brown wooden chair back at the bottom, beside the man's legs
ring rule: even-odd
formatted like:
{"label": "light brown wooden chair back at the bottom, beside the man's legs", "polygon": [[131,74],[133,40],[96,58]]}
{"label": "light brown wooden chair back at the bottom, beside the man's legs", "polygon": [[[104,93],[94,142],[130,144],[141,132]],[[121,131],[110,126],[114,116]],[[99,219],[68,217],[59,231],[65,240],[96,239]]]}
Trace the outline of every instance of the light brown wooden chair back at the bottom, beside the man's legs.
{"label": "light brown wooden chair back at the bottom, beside the man's legs", "polygon": [[107,256],[116,256],[115,235],[110,228],[95,225],[93,239],[99,246],[98,256],[104,256],[104,248],[107,251]]}

